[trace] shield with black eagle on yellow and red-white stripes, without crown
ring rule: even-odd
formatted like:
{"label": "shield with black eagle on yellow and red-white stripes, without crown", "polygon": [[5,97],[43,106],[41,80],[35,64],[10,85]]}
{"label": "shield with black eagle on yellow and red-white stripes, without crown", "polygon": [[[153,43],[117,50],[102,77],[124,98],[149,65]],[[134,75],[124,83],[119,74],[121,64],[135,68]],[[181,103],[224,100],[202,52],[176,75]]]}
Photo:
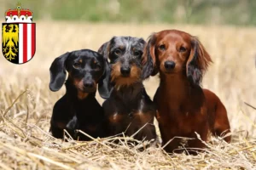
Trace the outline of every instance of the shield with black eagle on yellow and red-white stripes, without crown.
{"label": "shield with black eagle on yellow and red-white stripes, without crown", "polygon": [[35,23],[3,23],[3,56],[15,64],[32,59],[36,52]]}

